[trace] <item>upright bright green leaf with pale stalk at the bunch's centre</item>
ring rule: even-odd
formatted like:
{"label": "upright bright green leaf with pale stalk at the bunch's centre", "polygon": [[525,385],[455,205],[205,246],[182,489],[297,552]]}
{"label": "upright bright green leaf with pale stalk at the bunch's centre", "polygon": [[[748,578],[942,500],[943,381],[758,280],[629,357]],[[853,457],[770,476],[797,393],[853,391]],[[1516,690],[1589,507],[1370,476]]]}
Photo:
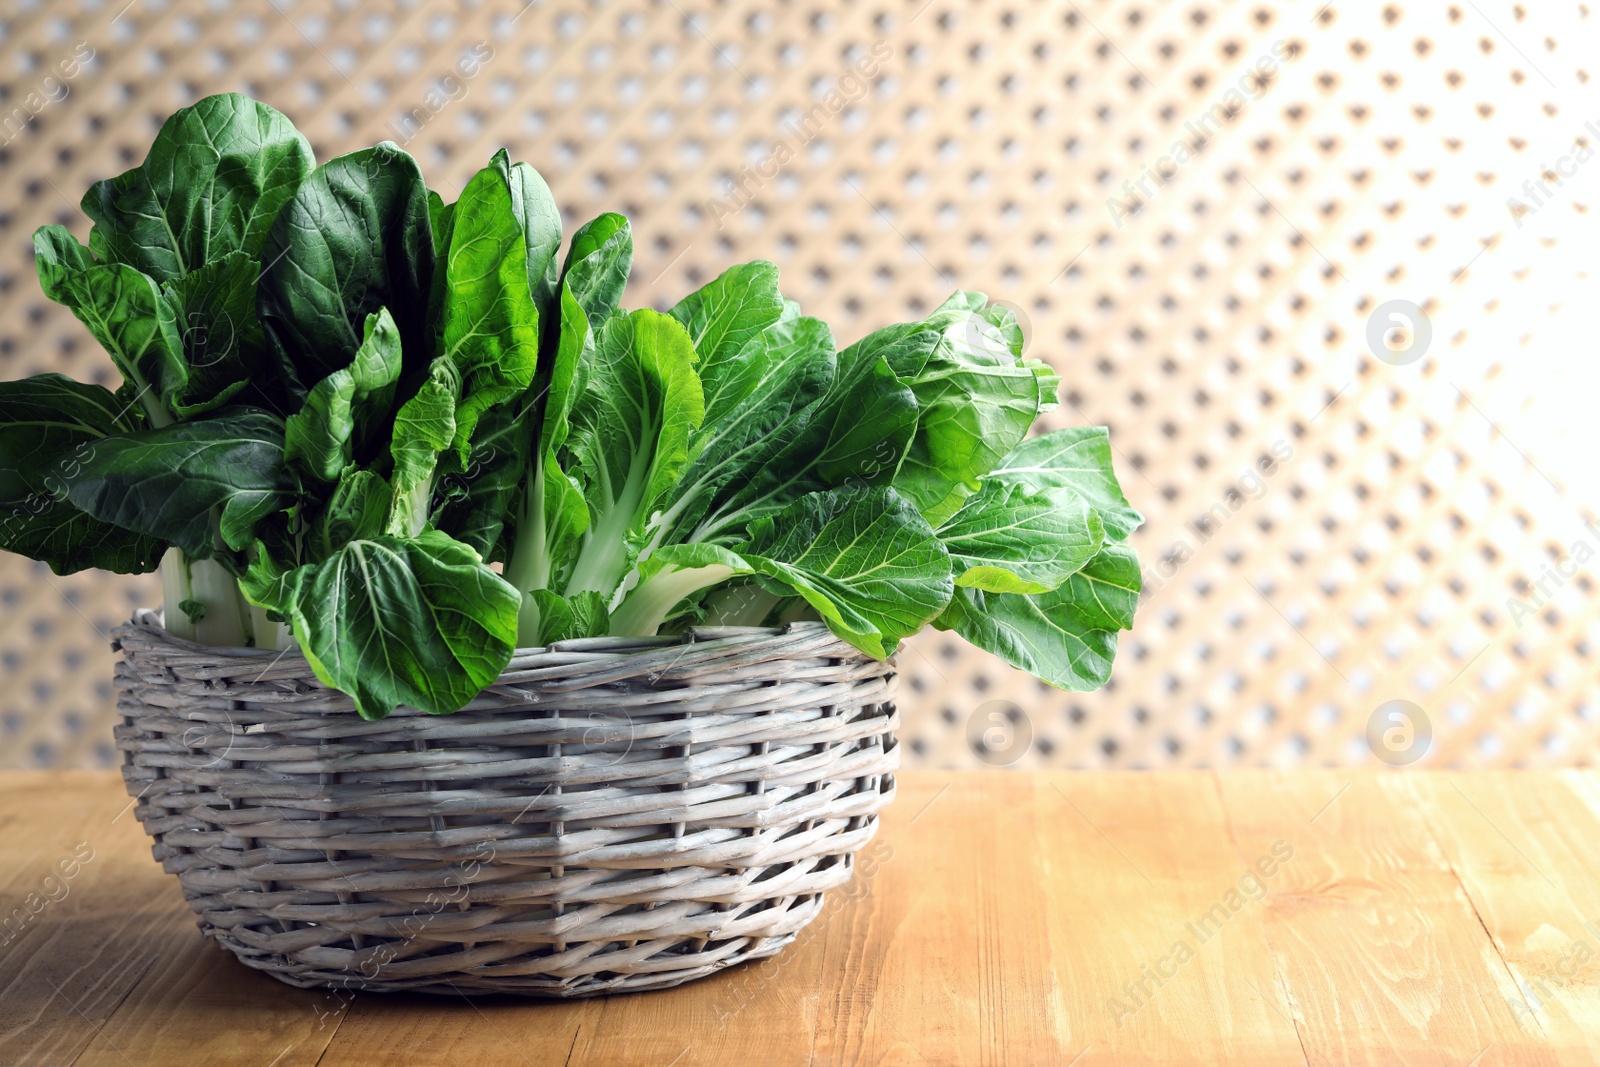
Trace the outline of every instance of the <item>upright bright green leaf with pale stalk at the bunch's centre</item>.
{"label": "upright bright green leaf with pale stalk at the bunch's centre", "polygon": [[568,593],[616,589],[629,537],[677,483],[702,413],[694,346],[675,318],[642,309],[606,322],[566,442],[590,512]]}

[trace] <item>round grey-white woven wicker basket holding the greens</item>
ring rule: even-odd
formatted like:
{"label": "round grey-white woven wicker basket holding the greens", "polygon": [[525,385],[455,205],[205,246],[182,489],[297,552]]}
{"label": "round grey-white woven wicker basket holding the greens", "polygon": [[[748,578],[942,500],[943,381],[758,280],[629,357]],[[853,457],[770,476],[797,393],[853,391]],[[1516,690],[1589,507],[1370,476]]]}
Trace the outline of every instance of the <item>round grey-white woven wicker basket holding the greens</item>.
{"label": "round grey-white woven wicker basket holding the greens", "polygon": [[794,941],[894,797],[894,667],[821,624],[523,649],[461,712],[381,721],[149,611],[114,648],[155,857],[291,985],[677,985]]}

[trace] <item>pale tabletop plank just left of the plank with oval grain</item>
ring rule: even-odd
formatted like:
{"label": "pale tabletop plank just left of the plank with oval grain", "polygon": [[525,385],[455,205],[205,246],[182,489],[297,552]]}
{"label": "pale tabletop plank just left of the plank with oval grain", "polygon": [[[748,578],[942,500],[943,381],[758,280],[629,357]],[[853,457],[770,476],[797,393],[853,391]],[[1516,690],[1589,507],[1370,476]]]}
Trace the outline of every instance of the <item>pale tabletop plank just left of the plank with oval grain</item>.
{"label": "pale tabletop plank just left of the plank with oval grain", "polygon": [[[1242,891],[1248,867],[1213,776],[1037,779],[1056,984],[1080,1062],[1298,1062],[1291,1019],[1262,998],[1262,907]],[[1226,918],[1208,923],[1219,904]]]}

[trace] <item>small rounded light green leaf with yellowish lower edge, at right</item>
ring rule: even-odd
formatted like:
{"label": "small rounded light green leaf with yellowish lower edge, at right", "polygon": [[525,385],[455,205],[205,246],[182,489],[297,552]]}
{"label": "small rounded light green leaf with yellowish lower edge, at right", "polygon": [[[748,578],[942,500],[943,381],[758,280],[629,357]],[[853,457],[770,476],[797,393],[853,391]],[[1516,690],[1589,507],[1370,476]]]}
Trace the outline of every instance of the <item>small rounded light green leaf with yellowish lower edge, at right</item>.
{"label": "small rounded light green leaf with yellowish lower edge, at right", "polygon": [[986,482],[939,537],[955,584],[992,593],[1043,593],[1067,581],[1106,542],[1099,514],[1075,493]]}

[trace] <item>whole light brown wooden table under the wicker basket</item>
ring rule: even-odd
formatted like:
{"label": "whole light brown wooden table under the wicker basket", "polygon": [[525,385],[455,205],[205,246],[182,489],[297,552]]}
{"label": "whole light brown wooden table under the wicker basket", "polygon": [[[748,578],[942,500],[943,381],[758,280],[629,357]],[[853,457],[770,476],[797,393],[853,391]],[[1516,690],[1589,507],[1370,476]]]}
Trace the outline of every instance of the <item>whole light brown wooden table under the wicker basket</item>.
{"label": "whole light brown wooden table under the wicker basket", "polygon": [[0,1062],[1594,1062],[1597,845],[1584,771],[906,773],[773,961],[346,1001],[202,941],[118,777],[10,773]]}

